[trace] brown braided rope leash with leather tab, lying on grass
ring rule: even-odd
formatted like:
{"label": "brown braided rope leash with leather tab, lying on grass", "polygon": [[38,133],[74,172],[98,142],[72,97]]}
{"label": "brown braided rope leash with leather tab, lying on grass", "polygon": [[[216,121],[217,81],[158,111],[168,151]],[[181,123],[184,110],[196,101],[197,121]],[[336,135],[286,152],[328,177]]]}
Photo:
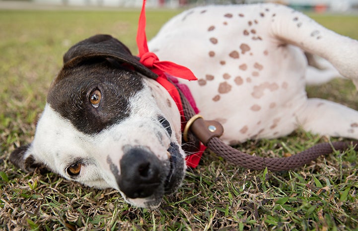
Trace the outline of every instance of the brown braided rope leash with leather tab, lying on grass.
{"label": "brown braided rope leash with leather tab, lying on grass", "polygon": [[[348,148],[354,146],[355,150],[358,150],[358,141],[353,142],[333,142],[333,143],[321,143],[317,144],[301,153],[291,155],[289,157],[282,158],[265,158],[260,156],[254,156],[240,152],[229,145],[224,144],[218,137],[222,135],[222,126],[215,121],[205,121],[201,116],[196,116],[192,106],[178,89],[180,98],[182,100],[184,116],[187,121],[191,121],[189,127],[187,127],[186,138],[190,139],[185,141],[186,144],[198,144],[199,139],[204,145],[210,148],[215,154],[222,156],[230,163],[236,164],[241,167],[250,168],[254,170],[261,170],[268,168],[272,171],[289,170],[304,164],[310,163],[321,155],[327,155],[334,150],[345,151]],[[191,120],[192,118],[194,120]],[[215,129],[213,129],[213,126]],[[190,131],[188,131],[190,130]],[[190,134],[192,133],[192,134]]]}

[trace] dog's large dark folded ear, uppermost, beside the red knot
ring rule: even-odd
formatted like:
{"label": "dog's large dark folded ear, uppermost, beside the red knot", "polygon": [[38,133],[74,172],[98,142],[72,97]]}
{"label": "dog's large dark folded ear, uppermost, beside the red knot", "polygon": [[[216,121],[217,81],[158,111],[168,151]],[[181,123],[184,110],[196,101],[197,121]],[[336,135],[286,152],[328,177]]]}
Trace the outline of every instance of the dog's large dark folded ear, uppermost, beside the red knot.
{"label": "dog's large dark folded ear, uppermost, beside the red knot", "polygon": [[128,47],[112,36],[104,34],[92,36],[73,45],[64,56],[64,68],[95,58],[114,59],[132,66],[146,77],[157,77],[139,62],[138,57],[132,55]]}

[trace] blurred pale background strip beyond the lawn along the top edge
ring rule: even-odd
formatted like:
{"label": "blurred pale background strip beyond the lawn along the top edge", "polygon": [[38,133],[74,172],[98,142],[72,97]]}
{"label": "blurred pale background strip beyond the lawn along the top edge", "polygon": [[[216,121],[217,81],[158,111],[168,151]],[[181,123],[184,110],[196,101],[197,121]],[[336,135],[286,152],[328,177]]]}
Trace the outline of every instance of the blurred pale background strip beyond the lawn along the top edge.
{"label": "blurred pale background strip beyond the lawn along the top edge", "polygon": [[[358,0],[147,0],[147,7],[180,8],[205,4],[276,2],[297,10],[358,12]],[[140,7],[142,0],[0,0],[0,8]]]}

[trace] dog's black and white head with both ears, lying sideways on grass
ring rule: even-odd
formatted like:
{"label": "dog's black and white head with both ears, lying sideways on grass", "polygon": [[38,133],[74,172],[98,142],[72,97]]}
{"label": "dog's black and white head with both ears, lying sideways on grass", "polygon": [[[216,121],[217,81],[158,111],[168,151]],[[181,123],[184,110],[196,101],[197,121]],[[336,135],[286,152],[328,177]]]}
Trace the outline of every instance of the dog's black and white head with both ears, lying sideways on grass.
{"label": "dog's black and white head with both ears, lying sideways on grass", "polygon": [[180,185],[185,161],[179,112],[155,77],[109,35],[77,43],[50,86],[33,142],[10,160],[159,206]]}

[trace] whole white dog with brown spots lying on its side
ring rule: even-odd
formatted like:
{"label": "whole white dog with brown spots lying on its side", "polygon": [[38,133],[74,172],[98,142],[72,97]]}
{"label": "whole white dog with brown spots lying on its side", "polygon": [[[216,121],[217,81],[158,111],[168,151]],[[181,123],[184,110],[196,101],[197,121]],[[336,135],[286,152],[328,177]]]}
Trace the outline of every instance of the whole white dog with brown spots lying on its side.
{"label": "whole white dog with brown spots lying on its side", "polygon": [[[358,138],[357,111],[305,92],[317,73],[324,81],[339,72],[358,86],[358,41],[284,5],[189,9],[148,45],[160,60],[198,77],[180,81],[200,114],[223,125],[226,144],[286,136],[298,127]],[[310,54],[332,65],[309,67],[316,60]],[[88,186],[115,188],[128,203],[154,209],[181,185],[181,145],[180,112],[168,91],[124,44],[96,35],[65,54],[33,142],[10,160],[25,170],[45,165]]]}

